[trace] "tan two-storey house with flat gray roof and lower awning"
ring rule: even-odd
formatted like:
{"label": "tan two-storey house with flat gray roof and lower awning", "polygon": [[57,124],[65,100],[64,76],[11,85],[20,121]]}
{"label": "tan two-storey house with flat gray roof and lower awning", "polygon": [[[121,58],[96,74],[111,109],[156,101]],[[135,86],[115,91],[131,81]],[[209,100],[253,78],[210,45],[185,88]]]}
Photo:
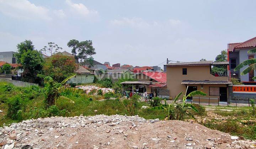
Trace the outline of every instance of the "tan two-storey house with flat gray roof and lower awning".
{"label": "tan two-storey house with flat gray roof and lower awning", "polygon": [[[169,96],[175,98],[181,91],[187,94],[194,90],[201,90],[207,96],[195,96],[190,99],[200,102],[218,103],[219,101],[227,102],[229,81],[227,74],[214,75],[211,72],[212,66],[228,66],[229,62],[179,62],[166,65],[166,92]],[[182,96],[180,96],[180,99]]]}

